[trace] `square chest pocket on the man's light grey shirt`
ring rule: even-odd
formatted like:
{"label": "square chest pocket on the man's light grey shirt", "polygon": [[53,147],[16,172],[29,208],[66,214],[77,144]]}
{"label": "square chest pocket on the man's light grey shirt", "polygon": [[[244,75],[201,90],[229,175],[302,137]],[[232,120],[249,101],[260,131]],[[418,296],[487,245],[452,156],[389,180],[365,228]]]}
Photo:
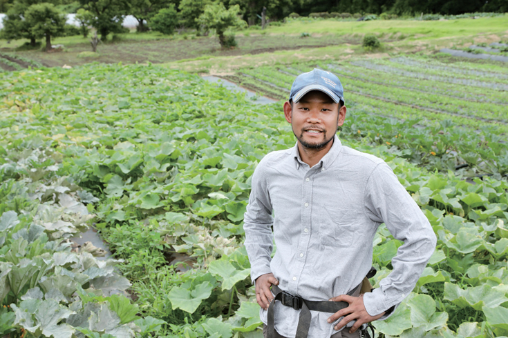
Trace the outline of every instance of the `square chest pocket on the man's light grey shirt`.
{"label": "square chest pocket on the man's light grey shirt", "polygon": [[334,248],[348,248],[355,239],[357,210],[322,206],[319,210],[319,244]]}

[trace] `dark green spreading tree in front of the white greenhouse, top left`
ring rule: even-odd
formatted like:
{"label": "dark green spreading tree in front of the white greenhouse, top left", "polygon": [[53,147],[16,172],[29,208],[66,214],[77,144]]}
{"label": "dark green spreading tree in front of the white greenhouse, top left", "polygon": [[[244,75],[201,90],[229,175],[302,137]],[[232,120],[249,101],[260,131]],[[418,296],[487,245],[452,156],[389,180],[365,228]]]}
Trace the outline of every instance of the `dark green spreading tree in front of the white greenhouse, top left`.
{"label": "dark green spreading tree in front of the white greenhouse, top left", "polygon": [[91,25],[106,41],[109,33],[122,32],[124,15],[129,12],[129,2],[126,0],[79,0],[85,10],[91,12]]}

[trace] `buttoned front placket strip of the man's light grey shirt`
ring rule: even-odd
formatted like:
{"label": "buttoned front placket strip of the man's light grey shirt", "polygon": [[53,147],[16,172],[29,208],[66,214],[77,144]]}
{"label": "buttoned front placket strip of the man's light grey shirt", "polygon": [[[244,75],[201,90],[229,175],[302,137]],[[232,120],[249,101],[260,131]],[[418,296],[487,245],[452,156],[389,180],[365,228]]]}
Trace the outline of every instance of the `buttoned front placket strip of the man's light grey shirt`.
{"label": "buttoned front placket strip of the man's light grey shirt", "polygon": [[302,185],[302,195],[301,195],[301,232],[300,239],[298,242],[298,251],[297,251],[297,264],[294,264],[294,268],[292,268],[292,276],[290,277],[290,293],[294,295],[299,295],[299,281],[301,279],[301,274],[303,272],[303,267],[305,266],[305,261],[308,256],[309,243],[310,243],[310,235],[312,233],[312,183],[314,173],[317,172],[316,166],[310,168],[303,175]]}

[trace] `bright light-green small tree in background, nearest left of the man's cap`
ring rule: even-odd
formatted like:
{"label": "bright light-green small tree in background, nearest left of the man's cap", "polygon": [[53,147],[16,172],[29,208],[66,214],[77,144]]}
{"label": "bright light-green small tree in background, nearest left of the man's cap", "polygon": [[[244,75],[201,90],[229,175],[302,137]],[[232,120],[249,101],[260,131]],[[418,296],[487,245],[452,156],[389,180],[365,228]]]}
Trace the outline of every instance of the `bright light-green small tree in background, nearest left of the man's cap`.
{"label": "bright light-green small tree in background, nearest left of the man's cap", "polygon": [[247,23],[239,18],[239,14],[240,6],[238,5],[234,5],[227,10],[224,3],[214,2],[205,6],[203,14],[196,19],[196,22],[209,29],[214,29],[220,47],[227,48],[228,46],[234,46],[234,37],[227,39],[224,34],[227,28],[244,28],[247,26]]}

